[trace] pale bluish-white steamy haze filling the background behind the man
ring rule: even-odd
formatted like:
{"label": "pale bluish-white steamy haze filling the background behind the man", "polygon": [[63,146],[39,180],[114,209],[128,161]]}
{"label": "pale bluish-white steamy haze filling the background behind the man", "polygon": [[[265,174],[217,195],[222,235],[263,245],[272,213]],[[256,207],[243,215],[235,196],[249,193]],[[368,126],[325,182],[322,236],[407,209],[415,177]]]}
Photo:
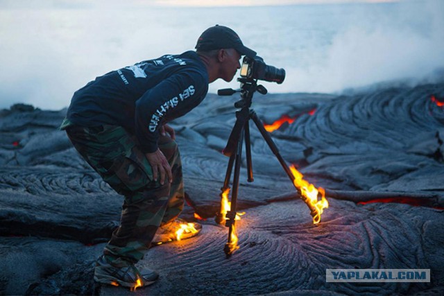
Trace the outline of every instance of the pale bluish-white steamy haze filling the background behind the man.
{"label": "pale bluish-white steamy haze filling the background behind the man", "polygon": [[[108,2],[49,1],[44,9],[4,3],[15,1],[0,2],[0,108],[29,103],[60,110],[96,76],[194,49],[198,35],[214,24],[234,28],[267,64],[286,69],[282,85],[264,83],[270,92],[420,81],[444,67],[441,0],[180,9],[138,6],[142,1],[118,9],[97,4]],[[239,84],[216,81],[210,92],[225,87]]]}

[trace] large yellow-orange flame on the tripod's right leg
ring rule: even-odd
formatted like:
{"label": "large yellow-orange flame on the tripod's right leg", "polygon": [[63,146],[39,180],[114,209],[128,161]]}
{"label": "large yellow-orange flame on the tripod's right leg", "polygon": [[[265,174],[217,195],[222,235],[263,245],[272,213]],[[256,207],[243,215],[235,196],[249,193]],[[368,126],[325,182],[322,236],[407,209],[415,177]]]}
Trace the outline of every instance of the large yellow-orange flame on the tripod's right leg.
{"label": "large yellow-orange flame on the tripod's right leg", "polygon": [[[294,180],[293,184],[297,189],[300,190],[300,195],[302,199],[307,203],[311,209],[313,216],[313,224],[318,224],[321,222],[321,214],[324,209],[328,208],[328,201],[325,199],[325,190],[321,187],[316,189],[313,184],[302,179],[304,175],[300,173],[295,166],[290,166],[291,173],[293,173]],[[321,200],[318,200],[318,193],[321,193]]]}

